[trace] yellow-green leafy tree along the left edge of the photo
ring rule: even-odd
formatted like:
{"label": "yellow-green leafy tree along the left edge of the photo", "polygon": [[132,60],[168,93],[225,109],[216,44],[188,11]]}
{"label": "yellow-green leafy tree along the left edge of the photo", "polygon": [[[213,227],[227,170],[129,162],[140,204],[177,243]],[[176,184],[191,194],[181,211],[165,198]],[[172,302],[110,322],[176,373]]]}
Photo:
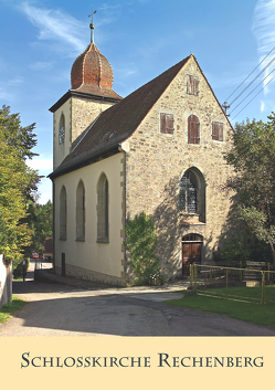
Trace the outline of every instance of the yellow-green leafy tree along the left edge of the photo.
{"label": "yellow-green leafy tree along the left edge of the photo", "polygon": [[31,151],[36,144],[33,127],[22,127],[9,107],[0,109],[0,253],[6,262],[19,262],[31,243],[32,231],[24,219],[40,180],[25,164],[35,155]]}

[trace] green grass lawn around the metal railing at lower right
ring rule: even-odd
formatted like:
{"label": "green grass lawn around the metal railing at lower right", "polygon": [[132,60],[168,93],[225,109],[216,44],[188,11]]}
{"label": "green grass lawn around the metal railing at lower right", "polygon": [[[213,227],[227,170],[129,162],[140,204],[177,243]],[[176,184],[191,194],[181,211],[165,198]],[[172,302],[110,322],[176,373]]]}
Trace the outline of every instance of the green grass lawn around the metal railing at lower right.
{"label": "green grass lawn around the metal railing at lower right", "polygon": [[[234,299],[237,299],[236,295],[253,297],[256,293],[261,297],[261,292],[254,291],[261,287],[232,287],[229,289],[229,296],[234,295]],[[254,291],[254,292],[253,292]],[[275,327],[275,287],[266,287],[266,304],[255,302],[242,302],[242,301],[230,301],[224,298],[215,298],[209,295],[225,296],[225,288],[212,288],[201,293],[204,295],[184,295],[183,298],[166,301],[171,306],[181,306],[197,308],[203,312],[212,312],[218,314],[225,314],[229,317],[242,319],[253,324],[267,325]],[[239,298],[242,299],[242,298]]]}

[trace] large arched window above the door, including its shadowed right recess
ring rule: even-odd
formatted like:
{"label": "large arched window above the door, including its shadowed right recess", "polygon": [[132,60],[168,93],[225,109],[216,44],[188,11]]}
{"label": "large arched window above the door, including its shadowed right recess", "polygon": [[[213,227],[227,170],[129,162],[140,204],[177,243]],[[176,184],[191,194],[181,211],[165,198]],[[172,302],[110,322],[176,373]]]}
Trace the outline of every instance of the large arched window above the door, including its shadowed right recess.
{"label": "large arched window above the door, including its shadowed right recess", "polygon": [[180,211],[198,214],[199,221],[205,223],[205,180],[201,171],[195,167],[188,169],[179,185]]}

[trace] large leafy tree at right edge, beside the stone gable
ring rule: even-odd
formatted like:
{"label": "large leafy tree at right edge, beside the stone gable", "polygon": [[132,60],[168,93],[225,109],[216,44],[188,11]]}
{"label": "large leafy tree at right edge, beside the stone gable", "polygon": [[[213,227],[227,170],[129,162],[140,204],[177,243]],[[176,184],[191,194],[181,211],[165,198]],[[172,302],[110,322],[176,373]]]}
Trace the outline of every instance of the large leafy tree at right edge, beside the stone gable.
{"label": "large leafy tree at right edge, beside the stone gable", "polygon": [[271,247],[275,265],[275,114],[236,124],[226,161],[234,176],[226,188],[235,191],[236,213],[250,232]]}

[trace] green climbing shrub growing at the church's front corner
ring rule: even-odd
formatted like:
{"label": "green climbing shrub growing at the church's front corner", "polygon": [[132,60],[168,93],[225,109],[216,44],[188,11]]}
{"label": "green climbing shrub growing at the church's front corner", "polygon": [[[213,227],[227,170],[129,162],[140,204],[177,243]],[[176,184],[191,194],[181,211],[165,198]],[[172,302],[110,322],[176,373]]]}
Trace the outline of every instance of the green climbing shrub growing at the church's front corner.
{"label": "green climbing shrub growing at the church's front corner", "polygon": [[139,283],[149,283],[150,275],[159,272],[159,259],[155,255],[158,235],[150,217],[141,212],[129,219],[126,234],[124,245],[130,252],[131,268]]}

